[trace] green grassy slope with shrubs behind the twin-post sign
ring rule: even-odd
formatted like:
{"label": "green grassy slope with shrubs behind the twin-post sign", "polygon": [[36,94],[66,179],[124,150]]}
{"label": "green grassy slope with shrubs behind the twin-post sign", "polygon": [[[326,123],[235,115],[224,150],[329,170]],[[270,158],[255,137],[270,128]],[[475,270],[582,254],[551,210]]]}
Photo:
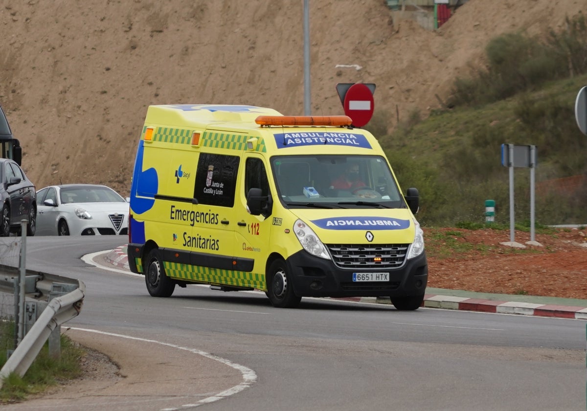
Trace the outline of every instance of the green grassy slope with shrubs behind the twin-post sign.
{"label": "green grassy slope with shrubs behind the twin-post sign", "polygon": [[[502,35],[486,49],[486,69],[455,79],[453,102],[445,108],[427,117],[414,110],[389,135],[383,132],[389,113],[375,114],[372,130],[400,185],[420,192],[417,218],[423,227],[483,224],[485,200],[495,201],[496,223],[509,222],[510,170],[501,164],[502,144],[537,147],[537,222],[587,221],[587,184],[575,191],[539,191],[543,181],[587,174],[587,139],[574,113],[576,95],[587,83],[585,39],[582,15],[546,38]],[[568,59],[546,56],[571,56],[573,70]],[[529,169],[514,169],[515,221],[529,219],[529,181]]]}

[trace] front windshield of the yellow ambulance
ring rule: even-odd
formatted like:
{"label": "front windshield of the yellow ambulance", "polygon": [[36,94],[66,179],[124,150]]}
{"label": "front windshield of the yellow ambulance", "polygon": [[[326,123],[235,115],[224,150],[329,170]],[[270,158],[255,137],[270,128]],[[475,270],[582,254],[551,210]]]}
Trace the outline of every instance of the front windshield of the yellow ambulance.
{"label": "front windshield of the yellow ambulance", "polygon": [[380,156],[278,156],[271,168],[288,207],[405,208],[387,161]]}

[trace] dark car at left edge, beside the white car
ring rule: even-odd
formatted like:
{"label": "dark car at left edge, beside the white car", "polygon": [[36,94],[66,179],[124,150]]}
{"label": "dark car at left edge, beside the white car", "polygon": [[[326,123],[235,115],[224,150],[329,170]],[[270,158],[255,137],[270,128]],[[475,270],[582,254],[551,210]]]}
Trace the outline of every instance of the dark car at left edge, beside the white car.
{"label": "dark car at left edge, beside the white car", "polygon": [[2,200],[2,222],[0,236],[21,233],[21,220],[26,220],[26,235],[36,231],[35,184],[14,160],[0,159],[0,200]]}

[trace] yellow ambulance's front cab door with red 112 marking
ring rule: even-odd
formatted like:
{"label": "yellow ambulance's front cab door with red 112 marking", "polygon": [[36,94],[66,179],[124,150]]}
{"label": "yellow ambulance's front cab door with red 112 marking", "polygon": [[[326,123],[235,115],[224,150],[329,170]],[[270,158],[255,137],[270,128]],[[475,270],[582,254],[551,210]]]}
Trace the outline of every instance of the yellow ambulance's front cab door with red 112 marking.
{"label": "yellow ambulance's front cab door with red 112 marking", "polygon": [[268,213],[266,215],[252,215],[247,211],[247,193],[250,188],[261,188],[262,196],[272,196],[276,198],[269,187],[267,178],[267,166],[261,156],[248,154],[243,158],[244,173],[239,178],[240,188],[237,193],[237,233],[235,252],[245,258],[254,259],[253,273],[258,275],[261,284],[257,288],[265,287],[265,262],[270,254],[269,244],[271,238],[271,221],[272,218]]}

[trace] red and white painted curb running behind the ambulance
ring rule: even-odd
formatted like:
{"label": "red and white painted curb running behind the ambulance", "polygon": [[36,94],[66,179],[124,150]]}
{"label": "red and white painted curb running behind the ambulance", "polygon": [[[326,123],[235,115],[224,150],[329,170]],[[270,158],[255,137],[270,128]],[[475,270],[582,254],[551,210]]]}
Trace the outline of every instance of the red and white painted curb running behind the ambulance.
{"label": "red and white painted curb running behind the ambulance", "polygon": [[[129,269],[126,245],[114,248],[106,255],[112,265]],[[346,301],[392,304],[389,297],[349,297],[338,298]],[[586,301],[587,304],[587,301]],[[498,301],[484,298],[456,297],[454,295],[426,294],[423,307],[454,309],[459,311],[488,312],[492,314],[519,314],[540,317],[555,317],[587,320],[587,306],[567,306],[556,304],[535,304],[531,302]]]}

